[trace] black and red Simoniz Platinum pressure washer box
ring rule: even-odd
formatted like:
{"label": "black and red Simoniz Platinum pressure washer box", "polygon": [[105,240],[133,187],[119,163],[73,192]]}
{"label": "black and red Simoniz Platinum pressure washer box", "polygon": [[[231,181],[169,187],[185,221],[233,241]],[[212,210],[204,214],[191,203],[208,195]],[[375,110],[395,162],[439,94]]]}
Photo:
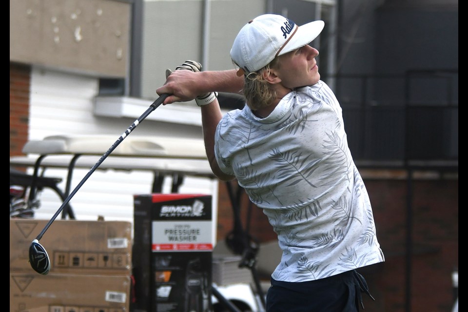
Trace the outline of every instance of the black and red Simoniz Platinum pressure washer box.
{"label": "black and red Simoniz Platinum pressure washer box", "polygon": [[212,196],[134,196],[134,312],[212,311]]}

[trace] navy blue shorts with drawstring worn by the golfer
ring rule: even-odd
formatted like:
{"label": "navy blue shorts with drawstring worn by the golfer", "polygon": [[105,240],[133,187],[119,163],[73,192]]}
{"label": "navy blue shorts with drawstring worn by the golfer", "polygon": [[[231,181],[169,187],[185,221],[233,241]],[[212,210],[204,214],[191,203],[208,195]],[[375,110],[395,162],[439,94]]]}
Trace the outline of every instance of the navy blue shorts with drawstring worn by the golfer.
{"label": "navy blue shorts with drawstring worn by the golfer", "polygon": [[267,312],[358,312],[361,292],[370,295],[364,277],[354,270],[315,281],[271,282]]}

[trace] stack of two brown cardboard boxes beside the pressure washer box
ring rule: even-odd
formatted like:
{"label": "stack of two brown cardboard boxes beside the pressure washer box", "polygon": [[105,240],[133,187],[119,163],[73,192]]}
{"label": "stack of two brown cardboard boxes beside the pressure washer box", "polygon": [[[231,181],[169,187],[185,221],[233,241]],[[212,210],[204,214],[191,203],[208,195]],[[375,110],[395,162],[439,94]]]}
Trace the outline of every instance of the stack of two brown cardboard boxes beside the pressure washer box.
{"label": "stack of two brown cardboard boxes beside the pressure washer box", "polygon": [[129,312],[132,224],[55,220],[40,239],[47,275],[29,246],[49,220],[10,218],[10,312]]}

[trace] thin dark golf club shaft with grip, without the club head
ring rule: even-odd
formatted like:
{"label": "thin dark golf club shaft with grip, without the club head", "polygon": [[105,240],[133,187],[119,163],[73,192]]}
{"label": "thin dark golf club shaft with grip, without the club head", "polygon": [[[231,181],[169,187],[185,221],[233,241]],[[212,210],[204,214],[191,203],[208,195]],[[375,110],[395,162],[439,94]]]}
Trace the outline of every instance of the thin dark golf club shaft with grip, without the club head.
{"label": "thin dark golf club shaft with grip, without the club head", "polygon": [[159,98],[157,98],[153,102],[153,104],[151,104],[150,107],[146,110],[146,112],[144,112],[140,117],[138,117],[135,120],[135,122],[130,127],[128,127],[128,129],[117,139],[117,141],[115,141],[114,144],[112,144],[112,146],[107,150],[107,152],[105,152],[104,155],[102,155],[99,158],[98,162],[90,169],[90,171],[86,174],[86,176],[83,177],[83,179],[78,183],[77,187],[75,187],[75,189],[70,193],[70,195],[68,195],[68,197],[62,203],[62,205],[60,206],[59,210],[57,210],[55,215],[52,216],[52,218],[50,219],[49,222],[47,222],[44,229],[36,237],[36,239],[38,241],[42,238],[42,235],[44,235],[44,233],[50,227],[52,222],[54,222],[54,220],[57,218],[57,216],[60,214],[60,212],[63,210],[63,208],[68,204],[70,199],[72,199],[72,197],[78,192],[79,188],[84,184],[84,182],[86,182],[86,180],[93,174],[93,172],[95,172],[95,170],[98,169],[99,165],[104,161],[104,159],[106,159],[107,156],[109,156],[109,154],[111,154],[117,148],[117,146],[120,144],[120,142],[122,142],[123,139],[125,137],[127,137],[138,126],[138,124],[141,121],[143,121],[143,119],[148,117],[148,115],[150,115],[151,112],[153,112],[159,105],[161,105],[162,102],[164,102],[164,100],[167,97],[169,97],[169,94],[163,94]]}

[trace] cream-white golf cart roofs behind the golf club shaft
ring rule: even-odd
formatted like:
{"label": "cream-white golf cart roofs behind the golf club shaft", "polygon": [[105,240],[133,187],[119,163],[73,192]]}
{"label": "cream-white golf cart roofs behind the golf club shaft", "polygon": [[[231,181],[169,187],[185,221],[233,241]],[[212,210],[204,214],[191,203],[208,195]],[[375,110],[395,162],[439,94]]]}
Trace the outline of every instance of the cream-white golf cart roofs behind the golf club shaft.
{"label": "cream-white golf cart roofs behind the golf club shaft", "polygon": [[[22,152],[10,157],[10,166],[91,168],[116,142],[115,136],[51,136],[28,141]],[[188,176],[215,177],[202,139],[128,136],[98,169],[150,170]]]}

